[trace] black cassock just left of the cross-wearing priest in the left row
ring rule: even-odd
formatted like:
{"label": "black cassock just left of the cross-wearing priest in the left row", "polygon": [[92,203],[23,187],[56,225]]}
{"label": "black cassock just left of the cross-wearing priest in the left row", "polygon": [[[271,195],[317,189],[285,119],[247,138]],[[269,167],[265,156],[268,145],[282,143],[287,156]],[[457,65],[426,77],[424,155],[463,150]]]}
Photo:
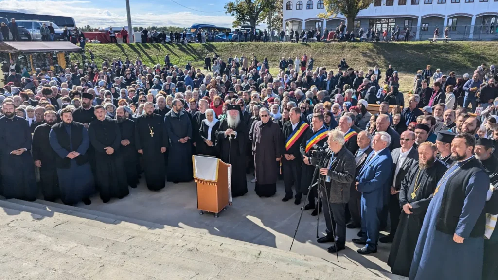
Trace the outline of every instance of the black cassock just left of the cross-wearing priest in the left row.
{"label": "black cassock just left of the cross-wearing priest in the left row", "polygon": [[121,140],[129,141],[129,144],[126,146],[120,146],[124,170],[126,170],[126,179],[130,187],[136,188],[136,184],[138,183],[138,174],[136,172],[138,153],[135,147],[135,122],[125,119],[122,123],[118,122],[118,127],[120,128]]}

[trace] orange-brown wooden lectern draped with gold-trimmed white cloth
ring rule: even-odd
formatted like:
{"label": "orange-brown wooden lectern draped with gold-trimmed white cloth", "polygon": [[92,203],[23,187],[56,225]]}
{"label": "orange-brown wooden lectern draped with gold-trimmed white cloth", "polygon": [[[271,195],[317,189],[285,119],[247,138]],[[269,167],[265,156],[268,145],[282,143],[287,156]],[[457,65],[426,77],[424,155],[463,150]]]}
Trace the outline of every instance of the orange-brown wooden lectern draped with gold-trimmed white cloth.
{"label": "orange-brown wooden lectern draped with gold-trimmed white cloth", "polygon": [[197,183],[197,209],[199,214],[204,211],[218,214],[225,210],[232,201],[231,178],[232,165],[221,159],[194,155],[194,181]]}

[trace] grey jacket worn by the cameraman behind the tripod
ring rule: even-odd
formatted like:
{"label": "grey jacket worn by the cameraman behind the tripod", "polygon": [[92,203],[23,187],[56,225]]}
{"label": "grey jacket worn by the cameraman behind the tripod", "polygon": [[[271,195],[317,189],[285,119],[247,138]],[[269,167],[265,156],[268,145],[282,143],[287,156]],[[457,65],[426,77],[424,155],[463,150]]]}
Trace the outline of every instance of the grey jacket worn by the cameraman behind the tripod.
{"label": "grey jacket worn by the cameraman behind the tripod", "polygon": [[[332,163],[330,163],[331,158]],[[355,156],[343,146],[334,156],[332,151],[328,150],[325,164],[327,168],[330,166],[327,173],[330,182],[325,181],[325,186],[329,190],[329,203],[348,203],[351,183],[355,180]]]}

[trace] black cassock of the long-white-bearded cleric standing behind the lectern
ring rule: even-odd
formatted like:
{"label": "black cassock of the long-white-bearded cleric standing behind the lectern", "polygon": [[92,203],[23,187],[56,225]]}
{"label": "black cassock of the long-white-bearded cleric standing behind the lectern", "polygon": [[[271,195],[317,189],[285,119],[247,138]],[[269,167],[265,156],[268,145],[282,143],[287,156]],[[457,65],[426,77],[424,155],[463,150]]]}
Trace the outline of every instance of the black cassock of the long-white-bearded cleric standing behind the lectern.
{"label": "black cassock of the long-white-bearded cleric standing behind the lectern", "polygon": [[232,164],[232,196],[245,195],[248,192],[246,180],[246,145],[249,140],[246,125],[241,120],[234,129],[237,136],[225,137],[225,131],[229,129],[227,119],[221,120],[220,128],[216,132],[216,147],[220,158],[225,163]]}

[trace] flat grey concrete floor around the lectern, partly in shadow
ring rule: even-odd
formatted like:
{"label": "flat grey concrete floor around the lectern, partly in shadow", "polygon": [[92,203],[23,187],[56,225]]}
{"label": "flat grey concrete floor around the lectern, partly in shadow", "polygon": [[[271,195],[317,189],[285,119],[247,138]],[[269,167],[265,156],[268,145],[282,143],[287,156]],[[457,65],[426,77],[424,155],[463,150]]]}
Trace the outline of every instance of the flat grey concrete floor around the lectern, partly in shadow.
{"label": "flat grey concrete floor around the lectern, partly in shadow", "polygon": [[[288,251],[301,213],[301,205],[294,205],[293,199],[288,202],[281,201],[284,197],[282,181],[277,183],[275,196],[259,198],[254,192],[254,184],[249,182],[251,178],[252,176],[248,176],[249,192],[243,197],[234,198],[233,206],[222,211],[219,218],[215,218],[211,213],[199,215],[194,182],[167,182],[166,187],[157,192],[148,190],[141,182],[138,188],[130,188],[130,195],[122,200],[112,199],[104,204],[96,196],[91,205],[80,203],[78,206]],[[336,256],[326,251],[333,243],[316,242],[317,220],[310,214],[311,210],[303,213],[292,252],[337,262]],[[357,238],[358,231],[359,229],[347,230],[347,248],[339,253],[340,262],[390,272],[386,264],[390,244],[379,244],[376,254],[360,255],[356,250],[361,246],[351,242],[351,239]],[[325,221],[321,214],[319,236],[324,235]]]}

